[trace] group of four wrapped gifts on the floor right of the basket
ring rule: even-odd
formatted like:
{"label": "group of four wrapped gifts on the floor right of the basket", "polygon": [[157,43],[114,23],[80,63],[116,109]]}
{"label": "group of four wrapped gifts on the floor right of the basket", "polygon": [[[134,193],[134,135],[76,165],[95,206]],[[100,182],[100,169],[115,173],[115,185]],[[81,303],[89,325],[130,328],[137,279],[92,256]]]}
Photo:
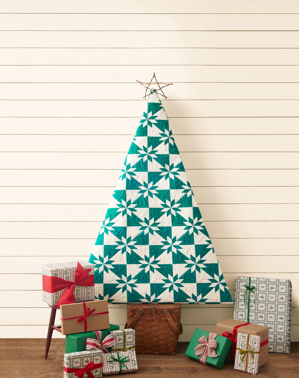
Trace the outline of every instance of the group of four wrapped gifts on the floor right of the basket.
{"label": "group of four wrapped gifts on the floor right of the basket", "polygon": [[186,356],[219,369],[256,374],[268,352],[290,353],[290,280],[236,277],[234,319],[216,324],[216,333],[196,329]]}

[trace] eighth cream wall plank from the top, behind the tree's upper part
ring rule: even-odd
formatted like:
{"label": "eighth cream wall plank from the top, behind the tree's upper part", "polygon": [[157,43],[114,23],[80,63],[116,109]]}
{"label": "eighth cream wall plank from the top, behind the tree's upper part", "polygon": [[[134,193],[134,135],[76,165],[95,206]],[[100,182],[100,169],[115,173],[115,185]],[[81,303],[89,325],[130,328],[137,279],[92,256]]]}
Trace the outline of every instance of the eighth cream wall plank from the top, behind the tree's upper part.
{"label": "eighth cream wall plank from the top, behind the tree's upper part", "polygon": [[[166,104],[167,105],[167,104]],[[141,108],[140,108],[141,109]],[[0,134],[130,134],[133,138],[139,125],[135,118],[1,118]],[[170,118],[170,127],[176,135],[226,134],[297,134],[296,117],[253,118]]]}

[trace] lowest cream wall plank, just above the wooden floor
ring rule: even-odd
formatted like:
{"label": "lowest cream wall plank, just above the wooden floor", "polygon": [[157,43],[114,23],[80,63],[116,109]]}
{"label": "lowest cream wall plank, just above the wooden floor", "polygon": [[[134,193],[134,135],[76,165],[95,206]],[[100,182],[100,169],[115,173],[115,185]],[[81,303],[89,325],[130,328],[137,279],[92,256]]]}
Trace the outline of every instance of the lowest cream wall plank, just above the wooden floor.
{"label": "lowest cream wall plank, just above the wooden floor", "polygon": [[[124,319],[126,320],[126,319]],[[120,324],[120,327],[123,328],[124,324]],[[179,336],[179,341],[190,341],[193,336],[195,328],[205,330],[207,332],[216,332],[216,325],[205,325],[205,324],[194,324],[194,325],[185,325],[182,335]],[[3,338],[20,338],[22,334],[23,338],[32,339],[34,338],[46,338],[48,331],[48,325],[11,325],[11,326],[0,326],[0,332]],[[53,334],[54,338],[64,338],[63,335],[59,332]],[[291,325],[291,341],[297,341],[299,339],[299,325]]]}

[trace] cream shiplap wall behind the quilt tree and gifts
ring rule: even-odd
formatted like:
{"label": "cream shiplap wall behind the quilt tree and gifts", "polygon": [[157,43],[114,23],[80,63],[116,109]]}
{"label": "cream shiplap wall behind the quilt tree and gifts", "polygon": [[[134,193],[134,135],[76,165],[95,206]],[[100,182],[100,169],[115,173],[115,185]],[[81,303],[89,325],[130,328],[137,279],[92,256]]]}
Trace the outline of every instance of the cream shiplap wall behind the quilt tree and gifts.
{"label": "cream shiplap wall behind the quilt tree and gifts", "polygon": [[[298,25],[291,0],[1,1],[2,337],[46,336],[41,265],[88,259],[156,72],[232,295],[290,278],[299,340]],[[184,306],[180,340],[232,315]]]}

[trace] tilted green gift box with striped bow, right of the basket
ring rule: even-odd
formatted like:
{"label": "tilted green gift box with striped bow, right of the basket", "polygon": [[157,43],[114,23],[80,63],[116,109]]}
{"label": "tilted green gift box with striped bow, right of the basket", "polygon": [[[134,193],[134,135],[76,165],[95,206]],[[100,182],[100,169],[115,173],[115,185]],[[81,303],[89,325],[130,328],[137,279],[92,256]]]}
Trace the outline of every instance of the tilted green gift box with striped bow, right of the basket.
{"label": "tilted green gift box with striped bow, right of the basket", "polygon": [[[196,355],[196,349],[199,349],[199,348],[205,349],[205,345],[207,344],[207,342],[210,341],[210,338],[213,337],[214,335],[216,336],[215,341],[217,343],[217,346],[216,346],[216,343],[214,343],[215,348],[213,347],[212,352],[208,351],[208,355],[207,355],[207,359],[205,360],[205,363],[207,365],[217,367],[218,369],[222,369],[224,361],[228,355],[228,352],[230,351],[232,341],[228,339],[227,337],[216,335],[216,333],[214,334],[211,333],[210,338],[209,338],[209,335],[210,335],[210,332],[196,329],[187,347],[185,355],[188,356],[189,358],[195,359],[196,361],[200,361],[202,356],[205,355],[205,352],[202,352],[200,355]],[[213,345],[213,341],[209,344],[209,346],[212,346],[212,345]],[[216,357],[209,356],[209,354],[214,354],[215,352],[217,354]]]}

